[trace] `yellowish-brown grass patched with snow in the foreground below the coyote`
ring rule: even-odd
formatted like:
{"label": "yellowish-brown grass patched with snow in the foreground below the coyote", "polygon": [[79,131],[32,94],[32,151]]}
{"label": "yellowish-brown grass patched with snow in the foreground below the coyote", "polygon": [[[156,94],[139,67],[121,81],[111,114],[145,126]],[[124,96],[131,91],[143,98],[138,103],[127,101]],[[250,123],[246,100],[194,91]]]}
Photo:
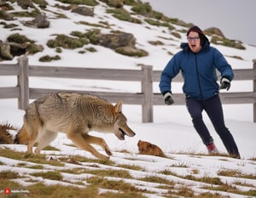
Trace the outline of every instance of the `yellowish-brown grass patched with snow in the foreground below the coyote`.
{"label": "yellowish-brown grass patched with snow in the foreground below the coyote", "polygon": [[[71,145],[72,146],[72,145]],[[49,150],[55,150],[54,147],[49,147]],[[253,188],[252,184],[241,184],[238,180],[233,184],[224,184],[220,178],[218,177],[200,177],[198,169],[190,170],[192,174],[187,174],[185,176],[178,175],[177,173],[173,173],[170,170],[163,170],[157,175],[148,175],[146,177],[136,177],[134,178],[131,175],[131,171],[140,171],[146,172],[143,170],[143,167],[132,166],[126,164],[115,164],[113,161],[102,161],[96,159],[88,159],[83,156],[51,156],[55,158],[55,160],[46,160],[49,159],[48,156],[45,155],[28,155],[22,152],[16,152],[14,150],[9,149],[0,149],[0,156],[19,160],[14,167],[29,168],[35,170],[35,172],[22,174],[17,173],[15,171],[2,171],[0,173],[0,188],[5,189],[7,186],[13,190],[20,190],[19,194],[16,194],[15,197],[23,197],[24,195],[29,195],[34,198],[39,197],[58,197],[61,198],[73,197],[74,195],[78,197],[86,196],[86,197],[145,197],[143,193],[152,194],[152,191],[147,190],[146,186],[139,184],[139,181],[143,181],[148,184],[158,184],[156,185],[160,190],[167,190],[165,197],[222,197],[218,195],[218,193],[214,193],[214,191],[224,191],[231,192],[237,195],[247,195],[247,196],[255,196],[255,190],[247,190],[242,191],[236,188],[236,185],[245,186],[248,188]],[[50,158],[51,158],[50,157]],[[33,162],[34,164],[30,164],[29,162]],[[1,163],[0,166],[5,165],[5,163]],[[50,166],[56,166],[56,169],[45,168],[44,164],[48,164]],[[65,164],[76,164],[78,167],[67,168]],[[61,168],[57,168],[61,167]],[[118,168],[117,168],[118,167]],[[189,168],[188,165],[184,163],[179,163],[177,165],[171,165],[171,168]],[[67,178],[72,177],[72,180],[64,177],[64,174],[68,173],[70,176],[66,176]],[[67,174],[66,174],[67,175]],[[201,193],[200,195],[196,194],[194,190],[189,185],[185,184],[177,184],[172,179],[168,178],[169,175],[175,176],[177,178],[188,179],[190,181],[201,182],[206,185],[204,187],[205,190],[212,190],[211,193]],[[197,175],[197,177],[195,177]],[[219,176],[225,177],[236,177],[236,178],[250,178],[255,179],[255,175],[242,173],[241,171],[232,170],[232,169],[221,169],[218,172]],[[164,177],[167,176],[167,177]],[[31,178],[33,177],[33,178]],[[63,182],[66,185],[61,184],[51,184],[45,185],[40,182],[40,178],[49,179],[53,182]],[[22,179],[26,182],[26,186],[22,186],[20,184],[15,183],[13,179]],[[128,181],[137,181],[135,184]],[[76,186],[74,186],[76,185]],[[99,190],[107,190],[100,192]],[[23,192],[21,193],[21,191]],[[110,191],[109,191],[110,190]],[[51,191],[51,193],[49,193]],[[0,197],[2,197],[0,195]]]}

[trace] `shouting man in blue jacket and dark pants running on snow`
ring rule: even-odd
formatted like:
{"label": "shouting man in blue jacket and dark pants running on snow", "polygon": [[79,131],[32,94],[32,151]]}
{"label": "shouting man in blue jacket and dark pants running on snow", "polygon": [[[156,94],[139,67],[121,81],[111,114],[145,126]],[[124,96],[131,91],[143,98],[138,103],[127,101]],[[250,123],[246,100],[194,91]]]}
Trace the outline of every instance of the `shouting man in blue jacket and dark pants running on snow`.
{"label": "shouting man in blue jacket and dark pants running on snow", "polygon": [[[202,110],[207,112],[230,156],[240,159],[236,142],[229,129],[225,127],[223,109],[218,96],[219,89],[230,89],[230,82],[234,77],[232,68],[223,54],[210,46],[210,42],[198,26],[189,29],[187,39],[188,42],[181,44],[183,50],[175,54],[162,71],[160,92],[164,95],[166,105],[172,105],[172,78],[181,71],[186,105],[195,130],[207,146],[208,152],[218,153],[218,150],[203,122]],[[221,74],[220,87],[216,69]]]}

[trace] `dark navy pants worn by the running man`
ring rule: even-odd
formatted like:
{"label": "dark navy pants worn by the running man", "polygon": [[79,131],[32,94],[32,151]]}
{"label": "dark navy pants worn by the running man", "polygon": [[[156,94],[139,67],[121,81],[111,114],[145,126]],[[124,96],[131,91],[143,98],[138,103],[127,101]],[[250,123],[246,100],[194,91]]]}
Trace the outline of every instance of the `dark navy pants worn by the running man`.
{"label": "dark navy pants worn by the running man", "polygon": [[212,136],[209,133],[207,126],[202,119],[202,110],[207,112],[213,127],[218,133],[220,139],[224,143],[226,150],[231,156],[240,157],[239,151],[236,146],[236,142],[233,139],[230,130],[225,127],[224,115],[218,94],[207,100],[186,99],[186,105],[189,110],[189,114],[192,117],[196,132],[200,135],[204,144],[208,145],[213,142]]}

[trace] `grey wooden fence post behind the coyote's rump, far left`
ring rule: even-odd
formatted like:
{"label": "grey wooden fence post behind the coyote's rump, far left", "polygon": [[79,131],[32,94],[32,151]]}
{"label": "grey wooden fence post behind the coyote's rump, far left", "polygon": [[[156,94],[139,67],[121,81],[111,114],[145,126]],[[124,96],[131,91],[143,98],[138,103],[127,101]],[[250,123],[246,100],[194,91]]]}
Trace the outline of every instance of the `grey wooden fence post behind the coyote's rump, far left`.
{"label": "grey wooden fence post behind the coyote's rump, far left", "polygon": [[20,75],[18,76],[18,87],[20,87],[20,98],[18,99],[18,108],[26,110],[29,104],[29,87],[28,87],[28,59],[26,56],[21,56],[18,59],[20,65]]}

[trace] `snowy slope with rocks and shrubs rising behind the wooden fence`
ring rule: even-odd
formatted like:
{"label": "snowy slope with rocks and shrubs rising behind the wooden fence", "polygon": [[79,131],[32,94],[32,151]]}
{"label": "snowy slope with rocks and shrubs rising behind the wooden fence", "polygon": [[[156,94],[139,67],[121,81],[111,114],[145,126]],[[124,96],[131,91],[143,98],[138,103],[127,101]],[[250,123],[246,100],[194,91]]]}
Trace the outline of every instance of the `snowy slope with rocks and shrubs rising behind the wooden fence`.
{"label": "snowy slope with rocks and shrubs rising behind the wooden fence", "polygon": [[[184,32],[191,26],[178,19],[167,18],[154,11],[148,3],[133,0],[42,0],[34,3],[27,0],[1,4],[0,39],[7,45],[2,44],[3,48],[9,48],[5,56],[2,48],[2,59],[15,60],[20,54],[29,54],[32,64],[40,61],[73,65],[69,57],[63,57],[63,52],[69,51],[73,58],[84,57],[84,63],[79,65],[101,67],[102,60],[87,60],[86,57],[89,54],[100,56],[105,50],[103,48],[113,51],[113,59],[108,59],[111,60],[108,65],[113,64],[113,67],[120,64],[119,60],[124,55],[128,62],[122,65],[148,64],[148,56],[160,59],[166,54],[175,54],[180,42],[186,41]],[[132,31],[131,26],[136,31]],[[218,28],[209,28],[205,33],[212,43],[241,49],[232,57],[243,59],[240,52],[243,53],[242,49],[246,47],[241,42],[224,37]],[[113,41],[117,43],[113,44]],[[155,61],[150,65],[162,68],[165,64]]]}

